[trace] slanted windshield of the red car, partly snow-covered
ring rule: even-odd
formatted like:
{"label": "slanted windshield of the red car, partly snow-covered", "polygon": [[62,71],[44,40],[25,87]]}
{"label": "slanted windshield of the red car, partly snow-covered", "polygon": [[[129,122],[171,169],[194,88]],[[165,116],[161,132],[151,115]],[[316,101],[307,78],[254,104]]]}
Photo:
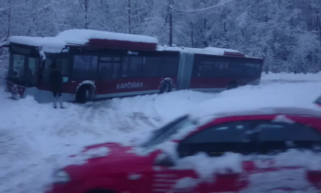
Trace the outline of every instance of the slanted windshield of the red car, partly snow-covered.
{"label": "slanted windshield of the red car, partly snow-covered", "polygon": [[191,120],[189,116],[178,118],[177,120],[167,124],[166,126],[152,132],[151,137],[141,146],[145,148],[161,144],[170,139],[171,136],[177,134],[182,129],[196,127],[197,123]]}

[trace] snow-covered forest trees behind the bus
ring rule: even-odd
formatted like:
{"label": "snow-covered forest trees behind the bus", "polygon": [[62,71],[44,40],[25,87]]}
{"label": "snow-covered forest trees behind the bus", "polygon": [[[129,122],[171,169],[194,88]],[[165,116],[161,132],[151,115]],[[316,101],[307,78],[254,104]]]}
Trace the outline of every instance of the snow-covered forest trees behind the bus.
{"label": "snow-covered forest trees behind the bus", "polygon": [[[94,29],[154,36],[164,45],[172,12],[178,46],[238,49],[264,57],[264,71],[320,71],[321,1],[233,0],[211,8],[226,1],[0,0],[0,43],[13,35]],[[1,65],[7,57],[0,57]]]}

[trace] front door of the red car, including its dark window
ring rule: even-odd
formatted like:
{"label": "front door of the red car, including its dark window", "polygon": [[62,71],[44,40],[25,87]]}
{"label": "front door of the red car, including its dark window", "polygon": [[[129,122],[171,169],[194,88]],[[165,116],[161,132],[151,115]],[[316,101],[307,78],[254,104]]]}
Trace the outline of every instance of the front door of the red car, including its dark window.
{"label": "front door of the red car, including its dark window", "polygon": [[178,168],[198,173],[200,192],[236,192],[248,185],[255,170],[249,122],[211,126],[188,137],[178,146]]}

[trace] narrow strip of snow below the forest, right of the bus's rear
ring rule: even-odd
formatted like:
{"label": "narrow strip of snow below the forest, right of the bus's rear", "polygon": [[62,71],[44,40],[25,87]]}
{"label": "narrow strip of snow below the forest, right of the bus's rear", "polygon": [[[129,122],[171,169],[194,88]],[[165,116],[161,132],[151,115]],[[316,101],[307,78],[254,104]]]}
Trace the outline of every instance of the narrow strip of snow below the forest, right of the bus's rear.
{"label": "narrow strip of snow below the forest, right of the bus's rear", "polygon": [[261,80],[297,80],[297,81],[313,81],[313,80],[321,80],[321,72],[312,74],[294,74],[294,73],[271,73],[269,72],[266,74],[265,72],[262,73]]}

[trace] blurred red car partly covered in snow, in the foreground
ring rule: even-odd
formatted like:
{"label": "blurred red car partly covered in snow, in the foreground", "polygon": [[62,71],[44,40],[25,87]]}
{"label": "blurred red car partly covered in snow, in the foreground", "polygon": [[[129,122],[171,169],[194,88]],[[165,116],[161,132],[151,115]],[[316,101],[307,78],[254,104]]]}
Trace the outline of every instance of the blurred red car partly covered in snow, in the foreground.
{"label": "blurred red car partly covered in snow, in the foreground", "polygon": [[93,156],[55,172],[48,193],[321,192],[321,111],[184,116],[138,147],[86,152]]}

